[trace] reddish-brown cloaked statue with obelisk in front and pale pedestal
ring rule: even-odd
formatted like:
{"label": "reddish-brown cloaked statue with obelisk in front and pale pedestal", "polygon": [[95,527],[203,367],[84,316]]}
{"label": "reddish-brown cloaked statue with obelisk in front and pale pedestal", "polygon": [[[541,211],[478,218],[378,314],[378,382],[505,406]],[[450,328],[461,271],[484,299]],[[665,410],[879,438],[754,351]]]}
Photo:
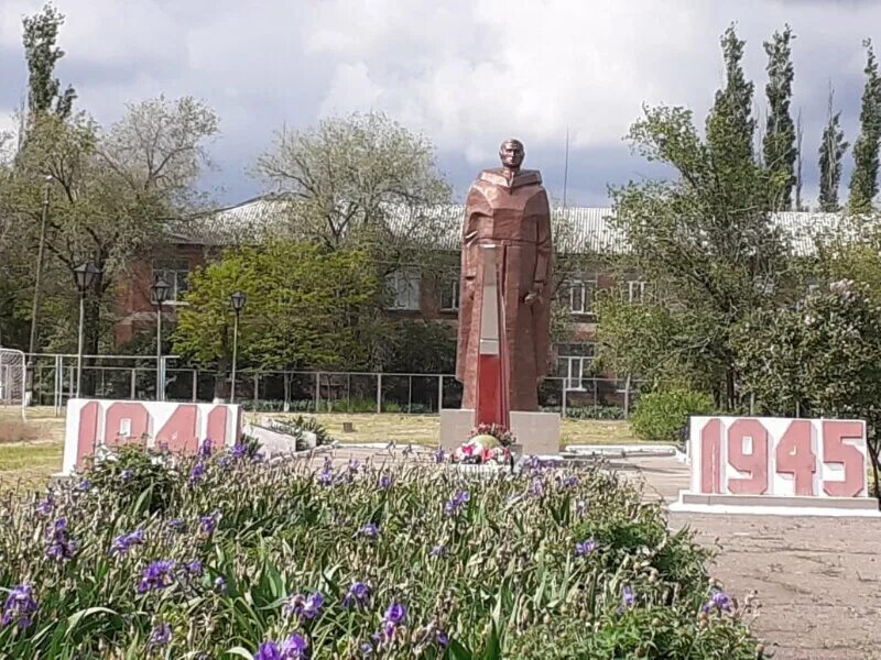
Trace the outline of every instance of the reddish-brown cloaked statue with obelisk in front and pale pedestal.
{"label": "reddish-brown cloaked statue with obelisk in front and pale pedestal", "polygon": [[526,451],[537,442],[541,451],[531,453],[557,453],[559,416],[539,413],[551,333],[551,209],[542,175],[521,169],[523,144],[507,140],[499,156],[502,167],[482,170],[466,200],[456,356],[463,409],[442,411],[440,442],[455,447],[463,429],[497,424]]}

